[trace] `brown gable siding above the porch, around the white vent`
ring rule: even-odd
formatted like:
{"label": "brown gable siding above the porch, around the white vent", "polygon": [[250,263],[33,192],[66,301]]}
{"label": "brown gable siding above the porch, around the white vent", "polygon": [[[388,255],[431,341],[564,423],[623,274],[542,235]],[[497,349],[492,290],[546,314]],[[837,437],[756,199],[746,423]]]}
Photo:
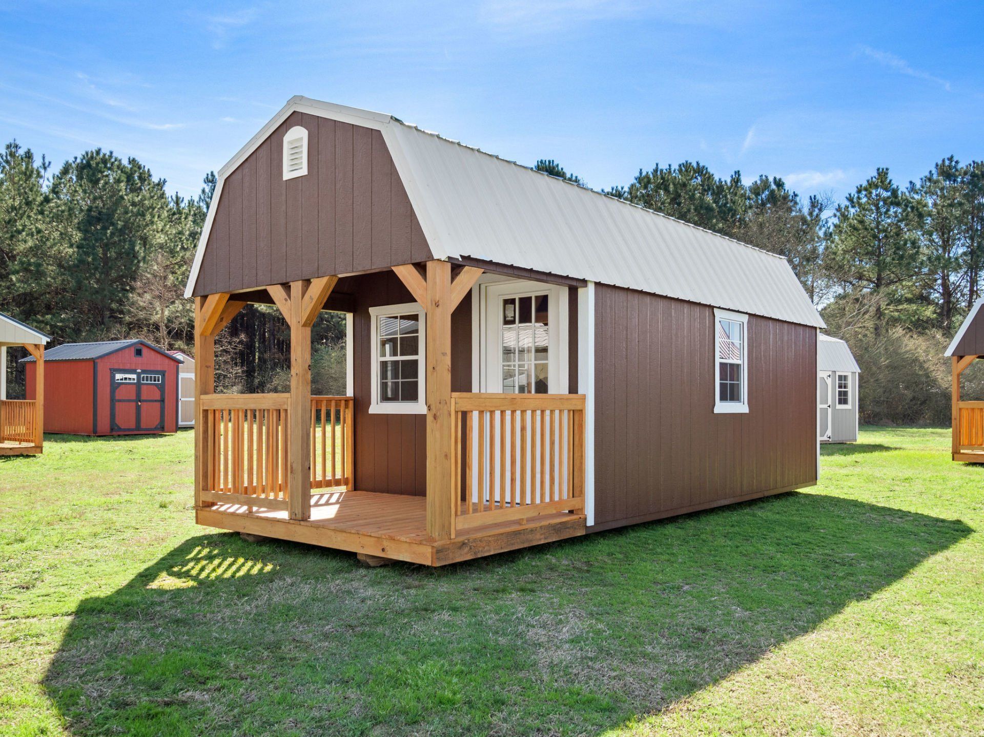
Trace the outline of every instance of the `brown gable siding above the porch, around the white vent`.
{"label": "brown gable siding above the porch, around the white vent", "polygon": [[[283,180],[283,136],[308,131],[308,173]],[[292,113],[225,178],[195,294],[432,258],[383,135]]]}

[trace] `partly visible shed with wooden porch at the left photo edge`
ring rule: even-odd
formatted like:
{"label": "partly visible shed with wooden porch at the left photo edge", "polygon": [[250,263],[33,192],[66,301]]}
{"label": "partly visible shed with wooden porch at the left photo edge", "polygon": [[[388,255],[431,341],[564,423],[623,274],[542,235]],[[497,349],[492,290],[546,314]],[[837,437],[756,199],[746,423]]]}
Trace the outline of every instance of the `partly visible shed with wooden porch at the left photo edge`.
{"label": "partly visible shed with wooden porch at the left photo edge", "polygon": [[[44,447],[44,346],[51,337],[0,312],[0,456],[31,456]],[[37,361],[26,399],[7,399],[7,348],[24,347]]]}

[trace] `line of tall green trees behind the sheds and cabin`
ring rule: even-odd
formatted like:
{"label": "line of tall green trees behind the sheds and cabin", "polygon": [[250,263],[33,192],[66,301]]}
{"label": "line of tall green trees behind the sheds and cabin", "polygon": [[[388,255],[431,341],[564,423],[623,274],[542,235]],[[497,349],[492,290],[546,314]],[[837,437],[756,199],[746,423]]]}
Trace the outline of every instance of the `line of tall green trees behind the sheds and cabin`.
{"label": "line of tall green trees behind the sheds and cabin", "polygon": [[[553,160],[534,168],[586,186]],[[197,197],[181,198],[135,158],[95,149],[54,170],[44,156],[7,144],[0,311],[55,344],[145,338],[190,352],[194,315],[184,285],[215,181],[210,172]],[[949,156],[904,185],[879,168],[841,202],[803,199],[779,177],[718,177],[690,161],[657,163],[602,192],[783,256],[827,332],[846,339],[861,365],[863,420],[948,421],[942,353],[984,281],[984,162]],[[313,339],[315,388],[342,392],[342,322],[324,314]],[[217,361],[225,391],[282,389],[289,335],[276,310],[237,315]],[[970,375],[968,385],[984,392],[984,377]]]}

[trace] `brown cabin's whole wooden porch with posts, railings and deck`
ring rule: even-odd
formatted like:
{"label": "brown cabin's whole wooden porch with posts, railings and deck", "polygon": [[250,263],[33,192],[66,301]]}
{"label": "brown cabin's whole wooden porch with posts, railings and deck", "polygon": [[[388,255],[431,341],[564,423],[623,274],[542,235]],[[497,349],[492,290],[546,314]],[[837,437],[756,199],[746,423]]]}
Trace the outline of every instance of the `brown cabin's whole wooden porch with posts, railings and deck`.
{"label": "brown cabin's whole wooden porch with posts, railings and deck", "polygon": [[584,534],[584,396],[452,393],[451,315],[481,270],[393,271],[426,311],[426,495],[359,490],[354,399],[311,396],[326,276],[267,287],[289,394],[213,393],[215,335],[245,302],[196,298],[196,521],[431,566]]}

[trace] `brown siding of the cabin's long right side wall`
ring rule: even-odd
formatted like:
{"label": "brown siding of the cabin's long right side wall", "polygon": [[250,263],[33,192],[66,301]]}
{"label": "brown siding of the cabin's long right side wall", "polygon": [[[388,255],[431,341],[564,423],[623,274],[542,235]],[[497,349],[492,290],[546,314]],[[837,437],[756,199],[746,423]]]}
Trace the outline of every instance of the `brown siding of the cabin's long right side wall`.
{"label": "brown siding of the cabin's long right side wall", "polygon": [[714,312],[595,288],[595,525],[816,481],[817,331],[748,324],[749,412],[715,414]]}

